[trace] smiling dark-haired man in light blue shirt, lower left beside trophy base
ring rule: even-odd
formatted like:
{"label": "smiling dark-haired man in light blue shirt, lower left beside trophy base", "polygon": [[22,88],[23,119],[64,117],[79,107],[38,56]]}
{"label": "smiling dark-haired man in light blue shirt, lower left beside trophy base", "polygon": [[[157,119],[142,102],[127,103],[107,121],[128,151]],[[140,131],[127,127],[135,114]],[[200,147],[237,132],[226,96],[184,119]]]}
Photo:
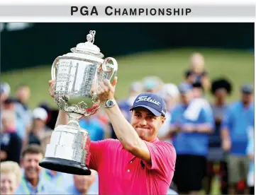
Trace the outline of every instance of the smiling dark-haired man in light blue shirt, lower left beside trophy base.
{"label": "smiling dark-haired man in light blue shirt, lower left beside trophy base", "polygon": [[54,184],[46,181],[39,166],[43,159],[43,149],[38,145],[28,145],[22,153],[23,176],[16,194],[65,194]]}

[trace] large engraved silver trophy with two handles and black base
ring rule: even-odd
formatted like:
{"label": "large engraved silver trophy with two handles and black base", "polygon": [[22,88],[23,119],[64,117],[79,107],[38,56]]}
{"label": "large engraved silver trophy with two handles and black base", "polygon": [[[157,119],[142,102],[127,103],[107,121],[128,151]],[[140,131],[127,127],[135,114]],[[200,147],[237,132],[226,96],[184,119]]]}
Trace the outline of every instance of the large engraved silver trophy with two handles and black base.
{"label": "large engraved silver trophy with two handles and black base", "polygon": [[[116,59],[104,57],[94,45],[95,31],[87,42],[79,43],[70,53],[57,57],[52,64],[52,79],[56,79],[55,103],[67,113],[67,125],[58,125],[46,146],[41,167],[74,175],[91,175],[89,165],[89,134],[80,128],[79,119],[96,114],[101,107],[97,98],[99,81],[113,82],[118,69]],[[110,63],[112,62],[112,64]]]}

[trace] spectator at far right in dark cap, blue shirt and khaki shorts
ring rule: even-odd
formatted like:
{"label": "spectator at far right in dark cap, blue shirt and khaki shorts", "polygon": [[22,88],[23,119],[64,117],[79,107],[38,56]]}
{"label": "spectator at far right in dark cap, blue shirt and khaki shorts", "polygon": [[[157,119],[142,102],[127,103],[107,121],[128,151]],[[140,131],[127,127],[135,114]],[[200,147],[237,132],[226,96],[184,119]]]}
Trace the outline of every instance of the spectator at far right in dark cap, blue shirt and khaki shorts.
{"label": "spectator at far right in dark cap, blue shirt and khaki shorts", "polygon": [[[247,135],[248,129],[254,125],[252,93],[252,85],[243,85],[241,100],[228,107],[221,124],[222,148],[228,153],[228,194],[237,194],[238,191],[235,190],[235,187],[240,182],[245,184],[247,177],[250,162],[246,155]],[[245,187],[245,193],[249,193],[247,187]]]}

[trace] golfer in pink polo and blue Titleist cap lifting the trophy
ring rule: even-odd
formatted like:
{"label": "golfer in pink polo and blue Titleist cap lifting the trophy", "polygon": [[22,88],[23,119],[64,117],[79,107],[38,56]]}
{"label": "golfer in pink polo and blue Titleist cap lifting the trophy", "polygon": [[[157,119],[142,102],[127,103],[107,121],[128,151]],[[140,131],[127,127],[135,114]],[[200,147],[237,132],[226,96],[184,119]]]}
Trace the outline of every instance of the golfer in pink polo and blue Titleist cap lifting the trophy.
{"label": "golfer in pink polo and blue Titleist cap lifting the trophy", "polygon": [[[99,173],[99,194],[167,194],[176,152],[172,144],[157,138],[165,122],[165,101],[153,93],[138,95],[129,124],[114,100],[116,83],[117,78],[112,85],[105,79],[97,86],[98,98],[118,137],[90,144],[89,168]],[[55,81],[49,85],[53,97]],[[67,121],[67,114],[60,111],[56,125]]]}

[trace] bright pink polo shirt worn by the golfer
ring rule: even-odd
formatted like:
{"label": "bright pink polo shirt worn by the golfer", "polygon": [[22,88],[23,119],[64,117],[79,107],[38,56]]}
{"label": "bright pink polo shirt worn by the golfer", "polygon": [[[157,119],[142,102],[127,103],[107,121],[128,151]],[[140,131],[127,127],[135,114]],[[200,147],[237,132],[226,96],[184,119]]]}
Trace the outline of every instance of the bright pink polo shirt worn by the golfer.
{"label": "bright pink polo shirt worn by the golfer", "polygon": [[91,142],[89,168],[99,173],[99,194],[167,194],[176,151],[171,143],[145,141],[152,165],[136,158],[120,141]]}

